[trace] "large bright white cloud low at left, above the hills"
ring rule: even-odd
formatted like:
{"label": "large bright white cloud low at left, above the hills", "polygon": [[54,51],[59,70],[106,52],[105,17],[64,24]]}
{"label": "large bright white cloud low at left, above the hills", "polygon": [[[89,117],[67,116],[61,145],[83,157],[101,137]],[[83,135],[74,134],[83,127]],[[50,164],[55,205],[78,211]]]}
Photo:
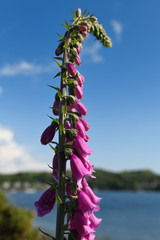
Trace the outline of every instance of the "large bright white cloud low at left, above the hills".
{"label": "large bright white cloud low at left, above the hills", "polygon": [[14,141],[10,129],[0,126],[0,173],[47,170],[46,164],[35,161],[25,146]]}

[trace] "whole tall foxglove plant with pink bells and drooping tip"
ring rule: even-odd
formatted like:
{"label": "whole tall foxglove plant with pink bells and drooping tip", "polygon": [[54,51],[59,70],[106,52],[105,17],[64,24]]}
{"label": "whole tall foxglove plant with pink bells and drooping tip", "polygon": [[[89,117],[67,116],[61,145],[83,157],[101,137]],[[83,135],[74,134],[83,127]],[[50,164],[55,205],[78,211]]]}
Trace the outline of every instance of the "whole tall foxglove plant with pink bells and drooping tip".
{"label": "whole tall foxglove plant with pink bells and drooping tip", "polygon": [[[55,77],[61,76],[61,83],[60,88],[50,87],[57,91],[52,113],[59,117],[50,117],[52,123],[41,136],[41,143],[49,144],[55,151],[51,167],[53,183],[35,202],[35,206],[38,216],[42,217],[52,211],[57,201],[56,236],[47,234],[52,239],[94,240],[95,229],[102,220],[94,215],[100,209],[100,198],[86,180],[87,177],[94,178],[92,174],[95,171],[88,160],[93,151],[87,145],[89,123],[84,118],[87,108],[80,101],[83,98],[84,76],[75,65],[81,65],[81,43],[88,33],[106,47],[112,47],[112,44],[96,17],[85,16],[85,12],[81,14],[80,8],[73,12],[73,17],[71,25],[67,21],[63,25],[67,29],[64,37],[58,34],[60,43],[55,50],[55,62],[60,67]],[[61,54],[63,57],[59,57]],[[56,131],[59,132],[58,143],[53,142]],[[53,144],[56,146],[53,147]],[[67,161],[70,161],[71,177],[66,175]]]}

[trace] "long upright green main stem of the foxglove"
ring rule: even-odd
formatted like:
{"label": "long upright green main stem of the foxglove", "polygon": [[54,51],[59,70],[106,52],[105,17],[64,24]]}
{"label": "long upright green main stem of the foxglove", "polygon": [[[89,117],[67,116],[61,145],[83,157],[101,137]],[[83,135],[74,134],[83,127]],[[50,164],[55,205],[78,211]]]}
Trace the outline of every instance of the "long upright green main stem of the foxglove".
{"label": "long upright green main stem of the foxglove", "polygon": [[[70,32],[67,33],[66,42],[69,46],[70,44]],[[62,62],[62,75],[61,75],[61,94],[63,100],[60,101],[60,109],[59,109],[59,126],[62,126],[62,129],[65,127],[65,114],[62,112],[65,107],[65,99],[66,96],[66,83],[63,80],[63,76],[66,72],[65,63],[68,62],[68,51],[65,49],[63,55]],[[57,222],[56,222],[56,240],[63,240],[63,225],[65,218],[65,175],[66,175],[66,160],[65,160],[65,132],[59,130],[59,154],[58,154],[58,176],[59,176],[59,184],[58,184],[58,194],[62,200],[61,204],[57,206]]]}

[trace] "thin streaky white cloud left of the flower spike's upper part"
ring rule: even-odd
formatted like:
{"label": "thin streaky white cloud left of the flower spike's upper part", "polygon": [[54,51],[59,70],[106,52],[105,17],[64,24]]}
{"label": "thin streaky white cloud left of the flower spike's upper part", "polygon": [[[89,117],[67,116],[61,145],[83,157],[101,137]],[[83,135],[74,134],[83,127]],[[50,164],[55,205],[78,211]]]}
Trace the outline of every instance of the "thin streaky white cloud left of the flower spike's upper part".
{"label": "thin streaky white cloud left of the flower spike's upper part", "polygon": [[55,64],[40,65],[35,63],[29,63],[27,61],[21,61],[14,64],[6,64],[0,68],[0,76],[16,76],[16,75],[35,75],[39,73],[51,72],[55,67]]}

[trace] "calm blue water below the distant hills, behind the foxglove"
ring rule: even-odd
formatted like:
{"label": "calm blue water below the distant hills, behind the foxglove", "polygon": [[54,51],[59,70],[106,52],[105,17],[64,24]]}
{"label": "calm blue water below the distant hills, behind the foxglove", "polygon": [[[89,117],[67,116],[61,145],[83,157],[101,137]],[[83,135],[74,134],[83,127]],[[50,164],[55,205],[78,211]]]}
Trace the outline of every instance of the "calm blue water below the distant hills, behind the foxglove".
{"label": "calm blue water below the distant hills, behind the foxglove", "polygon": [[[35,210],[34,202],[42,192],[27,194],[8,193],[14,204]],[[160,240],[159,192],[97,192],[102,197],[101,210],[96,213],[103,219],[97,228],[96,239],[106,240]],[[53,233],[56,220],[54,211],[43,218],[35,217],[34,225]]]}

